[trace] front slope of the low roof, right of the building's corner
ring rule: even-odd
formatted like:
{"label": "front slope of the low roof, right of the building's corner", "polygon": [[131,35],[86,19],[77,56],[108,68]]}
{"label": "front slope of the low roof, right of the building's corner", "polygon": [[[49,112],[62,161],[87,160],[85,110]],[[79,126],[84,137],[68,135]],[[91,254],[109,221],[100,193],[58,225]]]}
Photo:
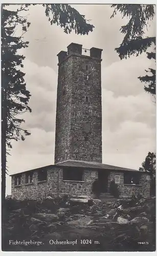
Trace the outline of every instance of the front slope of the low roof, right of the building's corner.
{"label": "front slope of the low roof, right of the building's corner", "polygon": [[128,170],[133,172],[139,172],[139,170],[129,169],[109,164],[103,164],[98,162],[86,162],[86,161],[78,161],[78,160],[66,160],[64,162],[56,163],[57,166],[67,166],[67,167],[84,167],[84,168],[95,168],[95,169],[107,169],[107,170]]}

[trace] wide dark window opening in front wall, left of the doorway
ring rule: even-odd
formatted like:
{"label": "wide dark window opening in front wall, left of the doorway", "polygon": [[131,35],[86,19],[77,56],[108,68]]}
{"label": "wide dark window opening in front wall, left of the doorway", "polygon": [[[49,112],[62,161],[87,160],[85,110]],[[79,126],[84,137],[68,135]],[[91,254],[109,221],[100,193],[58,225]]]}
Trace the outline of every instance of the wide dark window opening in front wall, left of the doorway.
{"label": "wide dark window opening in front wall, left of the doorway", "polygon": [[63,180],[82,181],[83,170],[77,167],[63,169]]}

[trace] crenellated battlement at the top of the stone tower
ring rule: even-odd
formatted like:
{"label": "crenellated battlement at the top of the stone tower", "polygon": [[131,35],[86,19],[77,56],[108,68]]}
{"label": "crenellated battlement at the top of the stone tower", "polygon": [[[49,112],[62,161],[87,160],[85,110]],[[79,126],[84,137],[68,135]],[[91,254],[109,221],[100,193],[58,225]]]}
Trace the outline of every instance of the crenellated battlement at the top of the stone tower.
{"label": "crenellated battlement at the top of the stone tower", "polygon": [[68,47],[68,51],[61,51],[57,54],[58,56],[58,62],[62,62],[66,57],[74,54],[74,55],[82,55],[82,56],[88,56],[91,58],[97,58],[101,59],[101,52],[102,49],[92,47],[91,49],[85,49],[82,48],[82,45],[75,44],[72,42]]}

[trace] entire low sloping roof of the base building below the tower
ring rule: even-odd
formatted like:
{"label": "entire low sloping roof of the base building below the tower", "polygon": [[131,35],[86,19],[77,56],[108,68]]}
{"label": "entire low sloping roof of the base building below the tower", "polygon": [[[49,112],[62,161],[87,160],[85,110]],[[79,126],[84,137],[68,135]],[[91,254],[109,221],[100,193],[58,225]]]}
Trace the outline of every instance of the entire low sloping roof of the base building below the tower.
{"label": "entire low sloping roof of the base building below the tower", "polygon": [[[15,174],[11,174],[10,176],[14,176],[16,174],[22,174],[22,173],[27,173],[27,172],[33,172],[34,170],[39,170],[39,169],[47,169],[53,166],[65,166],[65,167],[80,167],[80,168],[91,168],[91,169],[103,169],[103,170],[115,170],[115,171],[131,171],[131,172],[141,172],[140,170],[136,169],[129,169],[129,168],[124,168],[124,167],[119,167],[115,165],[109,165],[109,164],[104,164],[104,163],[98,163],[98,162],[87,162],[87,161],[79,161],[79,160],[66,160],[63,162],[58,162],[56,164],[52,165],[47,165],[47,166],[42,166],[39,168],[35,169],[30,169],[30,170],[25,170],[24,172],[19,172]],[[149,173],[148,173],[149,174]]]}

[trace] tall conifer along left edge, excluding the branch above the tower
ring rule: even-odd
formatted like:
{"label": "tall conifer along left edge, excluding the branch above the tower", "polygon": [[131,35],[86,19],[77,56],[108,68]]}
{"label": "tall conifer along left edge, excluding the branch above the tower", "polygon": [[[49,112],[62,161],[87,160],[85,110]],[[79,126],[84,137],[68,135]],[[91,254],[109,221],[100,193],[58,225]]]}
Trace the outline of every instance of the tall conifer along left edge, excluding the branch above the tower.
{"label": "tall conifer along left edge, excluding the branch above the tower", "polygon": [[[21,25],[23,33],[14,36],[16,24]],[[30,135],[21,128],[25,122],[20,114],[31,109],[28,106],[30,92],[26,90],[25,74],[19,70],[23,68],[25,57],[17,52],[28,47],[23,41],[23,34],[29,23],[15,11],[3,8],[2,11],[2,202],[5,199],[6,188],[6,155],[7,149],[12,147],[11,140],[25,140],[24,135]]]}

